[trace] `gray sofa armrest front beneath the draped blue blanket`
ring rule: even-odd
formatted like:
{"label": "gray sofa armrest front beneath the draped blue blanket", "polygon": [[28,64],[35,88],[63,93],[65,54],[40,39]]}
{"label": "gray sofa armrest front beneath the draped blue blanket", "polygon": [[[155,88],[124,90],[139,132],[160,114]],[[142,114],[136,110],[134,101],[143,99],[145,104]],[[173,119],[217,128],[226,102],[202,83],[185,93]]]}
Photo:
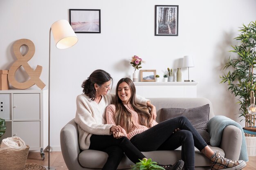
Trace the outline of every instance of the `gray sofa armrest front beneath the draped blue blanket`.
{"label": "gray sofa armrest front beneath the draped blue blanket", "polygon": [[242,132],[233,125],[226,126],[222,132],[220,148],[225,152],[225,158],[238,160],[242,147]]}

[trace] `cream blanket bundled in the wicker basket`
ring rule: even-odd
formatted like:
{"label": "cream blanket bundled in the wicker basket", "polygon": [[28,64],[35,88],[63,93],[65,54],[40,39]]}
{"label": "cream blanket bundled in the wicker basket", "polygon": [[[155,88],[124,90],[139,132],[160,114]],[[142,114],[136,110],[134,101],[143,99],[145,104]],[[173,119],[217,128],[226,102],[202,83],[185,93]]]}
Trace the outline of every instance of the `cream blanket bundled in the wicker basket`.
{"label": "cream blanket bundled in the wicker basket", "polygon": [[20,137],[7,137],[2,139],[0,150],[12,149],[12,150],[23,150],[27,148],[25,142]]}

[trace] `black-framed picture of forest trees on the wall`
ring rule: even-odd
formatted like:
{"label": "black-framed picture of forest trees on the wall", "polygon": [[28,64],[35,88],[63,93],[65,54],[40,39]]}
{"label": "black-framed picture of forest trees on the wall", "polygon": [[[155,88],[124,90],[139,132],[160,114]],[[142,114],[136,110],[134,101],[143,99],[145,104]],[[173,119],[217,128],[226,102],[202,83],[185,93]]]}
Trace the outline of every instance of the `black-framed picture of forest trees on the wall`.
{"label": "black-framed picture of forest trees on the wall", "polygon": [[179,5],[155,5],[155,35],[178,36]]}

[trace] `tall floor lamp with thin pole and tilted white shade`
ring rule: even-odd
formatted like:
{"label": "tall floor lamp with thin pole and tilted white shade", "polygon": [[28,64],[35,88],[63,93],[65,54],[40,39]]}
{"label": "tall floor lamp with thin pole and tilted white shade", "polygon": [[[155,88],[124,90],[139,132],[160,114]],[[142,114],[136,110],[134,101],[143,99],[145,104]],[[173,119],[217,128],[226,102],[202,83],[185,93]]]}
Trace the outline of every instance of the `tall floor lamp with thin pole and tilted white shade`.
{"label": "tall floor lamp with thin pole and tilted white shade", "polygon": [[58,49],[67,49],[78,41],[76,34],[67,20],[54,22],[49,31],[49,82],[48,82],[48,170],[56,170],[50,167],[50,73],[51,73],[51,31]]}

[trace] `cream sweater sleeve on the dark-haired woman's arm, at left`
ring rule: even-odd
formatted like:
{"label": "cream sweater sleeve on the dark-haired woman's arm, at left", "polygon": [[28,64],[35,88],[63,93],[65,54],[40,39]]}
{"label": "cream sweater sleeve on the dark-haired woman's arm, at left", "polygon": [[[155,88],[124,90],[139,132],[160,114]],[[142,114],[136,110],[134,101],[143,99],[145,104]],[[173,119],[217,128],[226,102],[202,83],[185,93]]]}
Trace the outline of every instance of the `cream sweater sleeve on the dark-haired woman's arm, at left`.
{"label": "cream sweater sleeve on the dark-haired woman's arm, at left", "polygon": [[76,98],[76,117],[75,122],[84,131],[94,135],[111,135],[110,124],[99,124],[93,117],[94,108],[82,95]]}

